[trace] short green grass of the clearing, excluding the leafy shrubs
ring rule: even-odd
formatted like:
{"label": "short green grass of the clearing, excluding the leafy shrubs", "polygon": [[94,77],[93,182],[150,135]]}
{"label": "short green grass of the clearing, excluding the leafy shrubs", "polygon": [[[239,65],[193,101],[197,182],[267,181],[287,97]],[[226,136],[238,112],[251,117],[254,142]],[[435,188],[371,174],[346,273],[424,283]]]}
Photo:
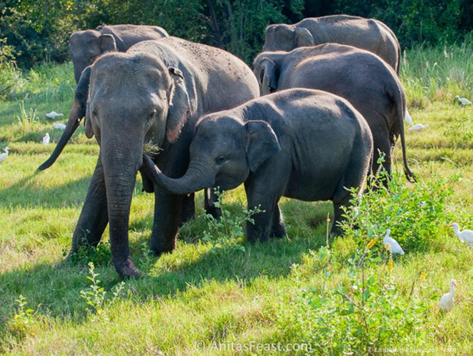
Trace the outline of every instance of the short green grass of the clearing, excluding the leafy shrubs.
{"label": "short green grass of the clearing, excluding the leafy shrubs", "polygon": [[[430,125],[406,134],[411,168],[424,183],[433,173],[463,176],[454,183],[445,210],[470,229],[473,107],[460,107],[453,98],[456,94],[473,98],[471,53],[471,47],[409,50],[401,70],[414,122]],[[112,290],[120,279],[106,245],[101,254],[84,254],[78,263],[62,262],[95,166],[95,140],[87,140],[81,127],[54,166],[41,173],[35,170],[54,148],[54,144],[41,145],[44,133],[49,132],[54,142],[60,136],[44,115],[55,110],[64,113],[62,122],[66,120],[73,83],[70,63],[45,64],[24,73],[13,99],[0,102],[0,149],[6,145],[11,149],[0,163],[0,350],[17,355],[160,355],[159,351],[192,355],[198,353],[195,343],[200,340],[206,345],[306,341],[305,324],[296,322],[300,319],[296,314],[311,315],[301,302],[304,289],[320,290],[328,283],[325,262],[314,256],[326,245],[325,220],[331,213],[327,202],[283,199],[288,239],[256,244],[239,241],[244,252],[216,254],[212,244],[201,241],[207,226],[199,218],[180,230],[174,253],[150,258],[143,244],[151,233],[154,199],[141,192],[138,179],[130,215],[131,253],[135,264],[149,276],[126,281],[120,297],[113,300]],[[36,121],[17,120],[22,101],[26,112],[37,110]],[[400,153],[398,145],[397,171],[402,171]],[[232,213],[242,214],[242,187],[228,192],[224,203]],[[197,205],[201,211],[201,192]],[[104,240],[108,240],[108,229]],[[393,334],[392,344],[377,347],[409,348],[420,343],[422,349],[432,349],[432,355],[444,354],[446,347],[455,348],[454,354],[472,355],[473,249],[462,245],[443,225],[419,244],[422,249],[395,258],[389,278],[396,285],[400,303],[425,304],[420,329],[416,329],[423,333],[422,340],[403,344],[404,339]],[[356,246],[353,238],[333,241],[330,285],[350,284],[348,259]],[[99,285],[107,292],[104,318],[91,317],[91,308],[80,293],[91,284],[87,279],[89,257],[95,273],[100,273]],[[383,268],[375,264],[367,273],[381,276]],[[438,303],[451,278],[459,283],[456,305],[444,314]],[[18,312],[15,300],[20,295],[27,302],[24,308],[33,311]],[[333,312],[329,311],[328,315]],[[15,314],[22,316],[15,319]],[[275,353],[253,350],[255,355]],[[202,354],[220,355],[215,349]]]}

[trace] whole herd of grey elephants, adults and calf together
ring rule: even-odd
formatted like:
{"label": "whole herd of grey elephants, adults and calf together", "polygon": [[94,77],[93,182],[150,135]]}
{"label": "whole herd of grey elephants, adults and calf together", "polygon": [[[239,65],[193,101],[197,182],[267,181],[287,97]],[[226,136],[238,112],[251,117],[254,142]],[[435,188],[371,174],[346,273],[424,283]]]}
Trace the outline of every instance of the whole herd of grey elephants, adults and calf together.
{"label": "whole herd of grey elephants, adults and calf together", "polygon": [[[116,25],[75,32],[69,41],[77,82],[67,127],[51,166],[83,117],[100,153],[69,253],[97,246],[110,224],[112,260],[123,278],[142,274],[130,258],[128,223],[136,174],[155,195],[150,249],[176,247],[179,224],[194,216],[194,192],[244,183],[248,207],[260,205],[249,241],[286,235],[281,197],[334,203],[338,233],[347,188],[391,170],[406,96],[400,47],[382,22],[347,15],[270,25],[253,71],[235,55],[171,37],[157,26]],[[159,146],[152,158],[143,146]]]}

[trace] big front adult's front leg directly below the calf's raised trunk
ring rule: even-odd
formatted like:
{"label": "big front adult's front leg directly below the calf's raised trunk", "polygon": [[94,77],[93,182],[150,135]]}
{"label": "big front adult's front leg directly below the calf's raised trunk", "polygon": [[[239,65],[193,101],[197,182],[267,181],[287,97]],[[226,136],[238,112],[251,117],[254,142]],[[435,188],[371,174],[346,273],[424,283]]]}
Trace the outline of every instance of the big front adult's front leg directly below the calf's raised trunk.
{"label": "big front adult's front leg directly below the calf's raised trunk", "polygon": [[157,186],[154,191],[156,200],[150,250],[162,254],[176,248],[182,196],[168,194]]}

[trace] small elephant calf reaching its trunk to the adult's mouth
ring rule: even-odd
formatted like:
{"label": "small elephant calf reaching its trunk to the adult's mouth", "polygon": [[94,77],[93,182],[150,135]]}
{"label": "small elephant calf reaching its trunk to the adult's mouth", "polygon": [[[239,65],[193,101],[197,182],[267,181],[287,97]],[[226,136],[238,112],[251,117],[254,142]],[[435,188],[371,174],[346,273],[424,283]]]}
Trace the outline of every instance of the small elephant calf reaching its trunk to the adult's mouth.
{"label": "small elephant calf reaching its trunk to the adult's mouth", "polygon": [[331,200],[333,233],[339,233],[346,188],[361,191],[373,139],[363,116],[345,99],[311,89],[290,89],[199,119],[184,176],[172,179],[144,156],[147,175],[174,194],[203,188],[236,188],[244,182],[248,208],[261,206],[249,241],[286,235],[278,206],[282,196]]}

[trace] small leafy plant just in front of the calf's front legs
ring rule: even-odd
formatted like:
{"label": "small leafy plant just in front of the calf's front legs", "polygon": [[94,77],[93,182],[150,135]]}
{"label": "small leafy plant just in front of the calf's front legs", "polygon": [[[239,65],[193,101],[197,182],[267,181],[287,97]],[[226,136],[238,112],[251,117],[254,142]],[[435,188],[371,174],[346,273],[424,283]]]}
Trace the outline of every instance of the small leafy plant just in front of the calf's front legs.
{"label": "small leafy plant just in front of the calf's front legs", "polygon": [[254,224],[252,216],[264,212],[259,206],[254,209],[243,209],[243,216],[233,214],[225,205],[222,204],[223,193],[218,188],[215,188],[215,195],[217,202],[215,207],[222,209],[222,216],[219,219],[214,218],[211,214],[204,212],[203,216],[207,222],[207,229],[204,231],[202,241],[208,242],[212,245],[210,252],[213,254],[219,251],[241,251],[245,248],[239,243],[240,239],[244,237],[243,224],[246,221]]}

